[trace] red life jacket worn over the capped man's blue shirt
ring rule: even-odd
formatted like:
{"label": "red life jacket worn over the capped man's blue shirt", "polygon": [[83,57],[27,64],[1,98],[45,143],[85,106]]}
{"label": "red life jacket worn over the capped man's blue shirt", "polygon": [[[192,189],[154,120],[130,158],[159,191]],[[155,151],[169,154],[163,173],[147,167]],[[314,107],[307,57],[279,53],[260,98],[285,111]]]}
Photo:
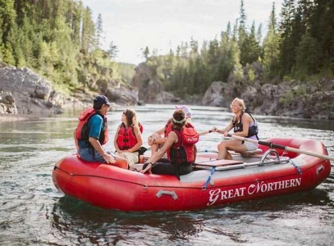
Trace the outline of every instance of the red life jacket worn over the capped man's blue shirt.
{"label": "red life jacket worn over the capped man's blue shirt", "polygon": [[95,114],[100,115],[103,119],[103,128],[100,132],[99,142],[101,145],[104,145],[108,142],[108,135],[109,135],[108,120],[106,116],[98,113],[93,108],[85,109],[80,113],[78,117],[79,123],[78,123],[77,129],[75,130],[75,137],[79,141],[89,142],[88,141],[88,138],[89,138],[88,137],[88,134],[89,134],[88,121]]}

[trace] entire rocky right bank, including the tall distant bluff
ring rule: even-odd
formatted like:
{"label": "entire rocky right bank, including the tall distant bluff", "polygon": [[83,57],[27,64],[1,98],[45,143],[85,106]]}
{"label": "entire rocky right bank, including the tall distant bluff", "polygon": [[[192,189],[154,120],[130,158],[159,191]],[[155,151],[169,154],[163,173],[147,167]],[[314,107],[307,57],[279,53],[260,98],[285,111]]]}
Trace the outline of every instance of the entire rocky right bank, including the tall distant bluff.
{"label": "entire rocky right bank, including the tall distant bluff", "polygon": [[281,83],[265,83],[258,80],[250,82],[250,68],[255,77],[261,77],[261,66],[254,62],[250,67],[244,68],[244,77],[241,80],[231,74],[227,82],[213,82],[204,95],[184,95],[180,98],[165,92],[163,82],[151,78],[145,63],[136,67],[133,84],[139,87],[139,100],[149,103],[229,107],[233,98],[240,97],[255,114],[334,119],[333,78],[319,79],[313,83],[296,80]]}

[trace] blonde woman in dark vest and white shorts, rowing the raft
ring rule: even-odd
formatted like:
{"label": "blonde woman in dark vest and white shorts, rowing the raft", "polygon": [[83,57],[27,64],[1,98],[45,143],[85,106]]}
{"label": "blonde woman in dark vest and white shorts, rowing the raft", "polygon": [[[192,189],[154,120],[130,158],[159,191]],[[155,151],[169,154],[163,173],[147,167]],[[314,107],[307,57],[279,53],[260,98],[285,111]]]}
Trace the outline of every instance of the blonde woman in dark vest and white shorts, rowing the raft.
{"label": "blonde woman in dark vest and white shorts, rowing the raft", "polygon": [[[245,113],[246,106],[243,99],[238,97],[234,98],[231,103],[231,110],[235,116],[232,121],[223,129],[212,128],[212,131],[219,132],[227,137],[228,132],[233,128],[234,135],[247,137],[251,139],[259,139],[257,137],[258,127],[256,120],[251,116],[251,114]],[[251,151],[256,150],[258,144],[245,142],[237,139],[222,141],[218,146],[218,159],[228,159],[231,160],[232,156],[228,153],[231,151]]]}

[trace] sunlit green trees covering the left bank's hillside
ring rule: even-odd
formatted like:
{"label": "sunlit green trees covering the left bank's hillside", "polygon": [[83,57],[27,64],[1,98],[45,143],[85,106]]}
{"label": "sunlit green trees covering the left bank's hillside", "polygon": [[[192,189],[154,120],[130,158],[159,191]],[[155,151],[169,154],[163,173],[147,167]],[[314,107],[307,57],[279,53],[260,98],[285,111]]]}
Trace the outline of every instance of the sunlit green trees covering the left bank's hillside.
{"label": "sunlit green trees covering the left bank's hillside", "polygon": [[[76,0],[0,0],[0,56],[3,62],[28,66],[69,93],[77,87],[96,90],[99,80],[121,80],[111,59],[99,48],[102,17],[96,28],[89,7]],[[129,80],[129,78],[127,78]]]}

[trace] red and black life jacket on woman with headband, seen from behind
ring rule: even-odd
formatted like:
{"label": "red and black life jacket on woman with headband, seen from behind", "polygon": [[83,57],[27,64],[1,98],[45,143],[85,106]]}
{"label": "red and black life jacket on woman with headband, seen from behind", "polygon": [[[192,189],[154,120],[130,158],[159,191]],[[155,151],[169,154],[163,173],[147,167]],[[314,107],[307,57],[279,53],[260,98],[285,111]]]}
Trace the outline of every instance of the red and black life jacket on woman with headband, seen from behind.
{"label": "red and black life jacket on woman with headband, seen from behind", "polygon": [[191,164],[194,162],[194,145],[199,135],[194,127],[172,127],[178,141],[167,150],[167,158],[173,164]]}

